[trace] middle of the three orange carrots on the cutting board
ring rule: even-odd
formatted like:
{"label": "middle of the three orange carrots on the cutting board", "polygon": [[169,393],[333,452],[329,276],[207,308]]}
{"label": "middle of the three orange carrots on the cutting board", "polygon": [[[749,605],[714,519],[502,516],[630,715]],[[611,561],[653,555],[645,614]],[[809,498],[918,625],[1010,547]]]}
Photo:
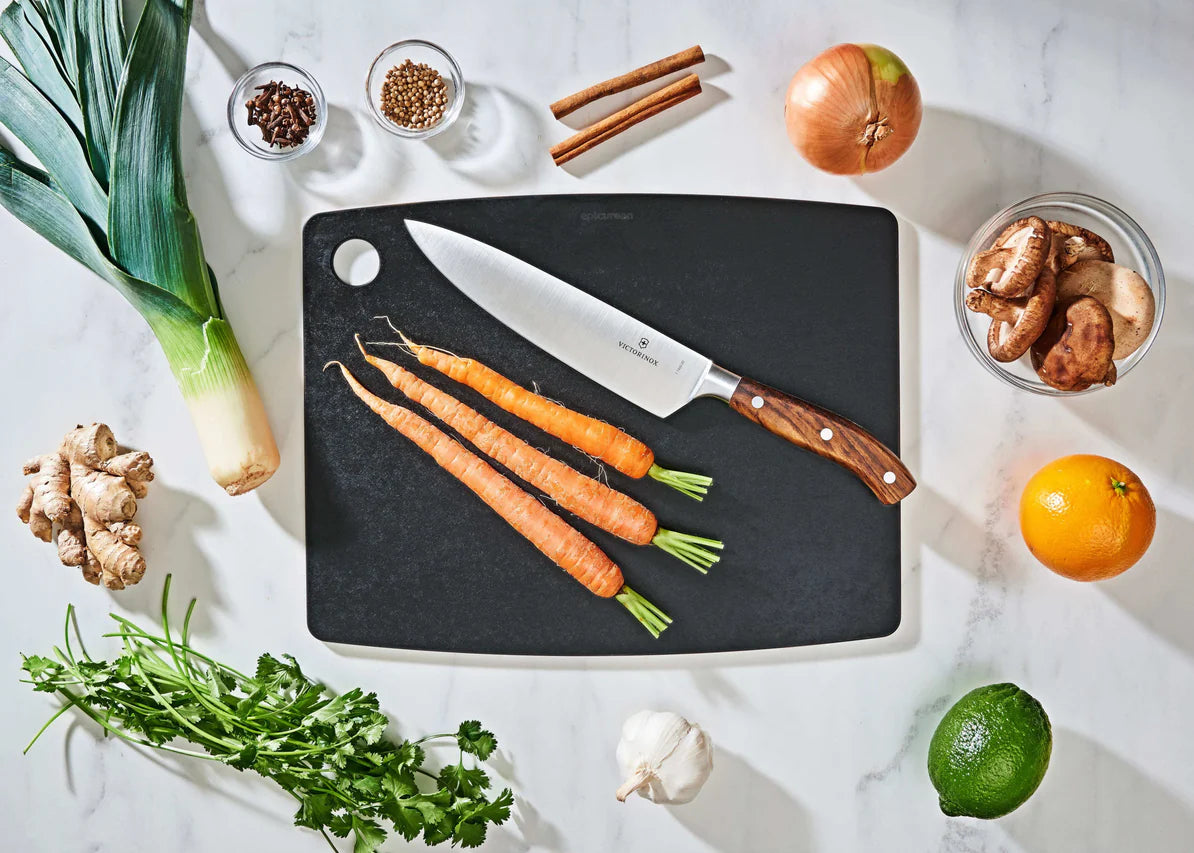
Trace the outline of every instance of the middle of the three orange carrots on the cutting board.
{"label": "middle of the three orange carrots on the cutting board", "polygon": [[536,450],[410,370],[370,355],[359,335],[356,342],[365,361],[381,370],[390,385],[570,513],[628,542],[656,545],[702,573],[720,559],[709,548],[721,548],[721,542],[660,528],[654,514],[630,496]]}

